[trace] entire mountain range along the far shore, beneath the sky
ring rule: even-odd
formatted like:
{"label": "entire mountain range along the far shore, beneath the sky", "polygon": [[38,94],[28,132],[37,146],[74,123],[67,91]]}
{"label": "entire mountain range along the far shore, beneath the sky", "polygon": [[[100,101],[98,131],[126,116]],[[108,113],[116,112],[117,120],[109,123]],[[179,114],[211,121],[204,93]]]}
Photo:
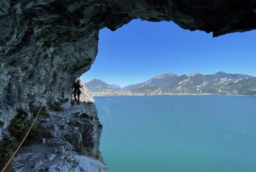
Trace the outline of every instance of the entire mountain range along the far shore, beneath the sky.
{"label": "entire mountain range along the far shore, beneath the sky", "polygon": [[[110,85],[101,80],[93,79],[86,83],[91,92],[132,91],[145,92],[143,87],[159,87],[162,94],[234,94],[255,95],[256,77],[245,74],[217,72],[212,75],[191,73],[178,76],[175,73],[162,74],[143,83],[128,85],[122,89],[119,85]],[[152,89],[150,88],[150,89]],[[138,89],[138,90],[136,90]],[[155,88],[154,88],[155,89]],[[149,91],[149,89],[147,89]]]}

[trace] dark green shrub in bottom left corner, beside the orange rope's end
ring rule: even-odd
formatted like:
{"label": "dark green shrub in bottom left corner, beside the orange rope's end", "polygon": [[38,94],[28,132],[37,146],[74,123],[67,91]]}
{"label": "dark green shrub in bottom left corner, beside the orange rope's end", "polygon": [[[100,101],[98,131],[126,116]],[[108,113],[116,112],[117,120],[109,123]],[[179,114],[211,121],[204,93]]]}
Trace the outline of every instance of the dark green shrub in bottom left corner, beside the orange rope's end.
{"label": "dark green shrub in bottom left corner, beside the orange rope's end", "polygon": [[[12,154],[17,149],[17,147],[18,142],[12,136],[6,139],[2,139],[0,141],[0,170],[2,170],[6,166],[7,162],[12,157]],[[9,165],[6,167],[5,172],[13,172],[13,165],[14,163],[13,161],[11,161]]]}

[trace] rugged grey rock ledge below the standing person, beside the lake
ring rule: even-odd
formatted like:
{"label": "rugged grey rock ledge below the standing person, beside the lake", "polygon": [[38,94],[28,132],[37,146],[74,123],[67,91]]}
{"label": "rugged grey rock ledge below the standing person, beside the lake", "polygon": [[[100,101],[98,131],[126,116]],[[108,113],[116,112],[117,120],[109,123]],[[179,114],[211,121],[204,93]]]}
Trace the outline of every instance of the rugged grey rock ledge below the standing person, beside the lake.
{"label": "rugged grey rock ledge below the standing person, beside the lake", "polygon": [[15,172],[108,172],[96,159],[100,156],[102,125],[94,104],[47,112],[49,118],[37,120],[43,122],[45,138],[18,151]]}

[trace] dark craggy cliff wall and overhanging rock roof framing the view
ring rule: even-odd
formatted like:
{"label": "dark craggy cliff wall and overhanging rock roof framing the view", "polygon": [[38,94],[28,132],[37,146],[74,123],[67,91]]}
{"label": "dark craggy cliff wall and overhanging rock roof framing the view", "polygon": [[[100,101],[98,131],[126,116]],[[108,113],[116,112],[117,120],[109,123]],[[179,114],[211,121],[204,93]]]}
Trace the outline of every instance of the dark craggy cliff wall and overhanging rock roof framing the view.
{"label": "dark craggy cliff wall and overhanging rock roof framing the view", "polygon": [[[0,0],[0,121],[40,105],[50,89],[71,99],[95,61],[99,30],[141,18],[213,36],[256,28],[255,0]],[[56,101],[48,95],[46,105]]]}

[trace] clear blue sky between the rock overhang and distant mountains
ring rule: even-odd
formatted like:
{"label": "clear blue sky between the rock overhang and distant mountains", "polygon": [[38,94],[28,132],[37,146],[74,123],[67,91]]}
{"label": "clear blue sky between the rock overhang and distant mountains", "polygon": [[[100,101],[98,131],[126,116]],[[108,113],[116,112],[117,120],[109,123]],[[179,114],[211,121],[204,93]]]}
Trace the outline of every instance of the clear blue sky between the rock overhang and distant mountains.
{"label": "clear blue sky between the rock overhang and distant mountains", "polygon": [[98,55],[82,80],[125,87],[164,73],[242,73],[256,76],[256,31],[191,32],[173,22],[133,20],[115,32],[100,30]]}

